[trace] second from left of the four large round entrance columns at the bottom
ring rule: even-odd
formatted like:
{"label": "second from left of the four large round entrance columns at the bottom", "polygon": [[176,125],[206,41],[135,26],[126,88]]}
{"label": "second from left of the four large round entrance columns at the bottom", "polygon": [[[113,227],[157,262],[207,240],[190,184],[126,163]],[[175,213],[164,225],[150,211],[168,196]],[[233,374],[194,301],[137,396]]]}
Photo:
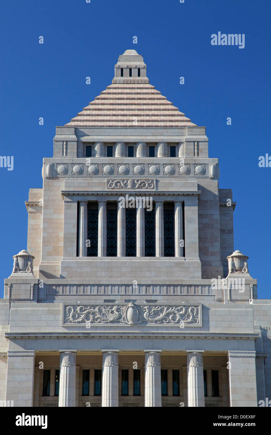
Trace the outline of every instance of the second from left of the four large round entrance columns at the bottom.
{"label": "second from left of the four large round entrance columns at the bottom", "polygon": [[119,350],[102,350],[102,406],[119,405],[118,356]]}

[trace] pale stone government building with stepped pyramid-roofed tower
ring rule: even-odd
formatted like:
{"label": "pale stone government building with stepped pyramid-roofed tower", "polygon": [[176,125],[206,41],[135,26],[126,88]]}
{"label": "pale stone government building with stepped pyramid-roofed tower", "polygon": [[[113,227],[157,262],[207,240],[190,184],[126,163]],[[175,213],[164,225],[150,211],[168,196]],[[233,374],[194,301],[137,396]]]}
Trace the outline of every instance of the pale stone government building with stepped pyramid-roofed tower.
{"label": "pale stone government building with stepped pyramid-roofed tower", "polygon": [[1,403],[271,405],[271,300],[234,250],[232,191],[135,50],[42,176],[0,299]]}

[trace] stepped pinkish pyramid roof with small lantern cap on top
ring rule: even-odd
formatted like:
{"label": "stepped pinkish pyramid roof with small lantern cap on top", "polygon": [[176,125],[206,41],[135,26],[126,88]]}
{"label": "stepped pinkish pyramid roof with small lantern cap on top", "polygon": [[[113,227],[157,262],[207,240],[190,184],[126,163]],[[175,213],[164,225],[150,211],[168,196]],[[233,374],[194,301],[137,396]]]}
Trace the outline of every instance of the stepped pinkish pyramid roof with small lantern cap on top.
{"label": "stepped pinkish pyramid roof with small lantern cap on top", "polygon": [[191,120],[149,84],[143,57],[126,50],[115,65],[115,77],[67,126],[193,127]]}

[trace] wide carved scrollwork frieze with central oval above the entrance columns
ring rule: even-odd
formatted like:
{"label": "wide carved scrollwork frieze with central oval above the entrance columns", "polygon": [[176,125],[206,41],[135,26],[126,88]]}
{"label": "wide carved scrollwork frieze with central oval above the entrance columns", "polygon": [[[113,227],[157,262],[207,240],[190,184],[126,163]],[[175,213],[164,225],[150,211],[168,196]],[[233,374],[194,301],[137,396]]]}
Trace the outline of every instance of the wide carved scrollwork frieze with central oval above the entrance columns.
{"label": "wide carved scrollwork frieze with central oval above the entrance columns", "polygon": [[201,304],[63,305],[63,325],[91,324],[201,326]]}

